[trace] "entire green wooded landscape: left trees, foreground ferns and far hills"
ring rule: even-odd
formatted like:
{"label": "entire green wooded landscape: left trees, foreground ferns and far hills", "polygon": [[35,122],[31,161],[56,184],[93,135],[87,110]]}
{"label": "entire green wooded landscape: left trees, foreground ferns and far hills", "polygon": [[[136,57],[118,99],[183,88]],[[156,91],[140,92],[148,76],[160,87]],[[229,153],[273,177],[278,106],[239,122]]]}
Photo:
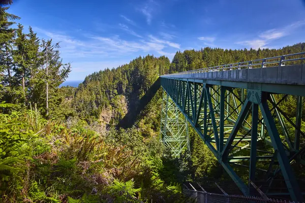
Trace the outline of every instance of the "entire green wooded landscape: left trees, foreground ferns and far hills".
{"label": "entire green wooded landscape: left trees, foreground ferns and far hills", "polygon": [[[190,128],[191,155],[173,158],[159,142],[160,89],[132,128],[117,124],[160,75],[305,51],[283,49],[178,51],[139,56],[62,87],[73,69],[60,43],[39,39],[0,8],[0,201],[185,202],[181,184],[227,180]],[[86,67],[83,67],[86,68]]]}

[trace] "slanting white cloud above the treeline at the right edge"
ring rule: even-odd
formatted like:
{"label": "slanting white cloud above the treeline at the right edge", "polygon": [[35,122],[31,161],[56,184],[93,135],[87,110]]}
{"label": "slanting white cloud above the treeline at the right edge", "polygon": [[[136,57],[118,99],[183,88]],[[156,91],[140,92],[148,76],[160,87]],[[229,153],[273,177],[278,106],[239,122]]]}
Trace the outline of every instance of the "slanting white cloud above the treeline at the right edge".
{"label": "slanting white cloud above the treeline at the right edge", "polygon": [[283,38],[285,36],[290,35],[295,29],[305,25],[305,20],[297,21],[290,25],[287,25],[283,28],[279,29],[268,29],[259,33],[258,37],[253,40],[245,40],[241,42],[235,42],[235,44],[249,46],[253,49],[258,48],[267,48],[267,45],[271,43],[273,40],[277,40]]}

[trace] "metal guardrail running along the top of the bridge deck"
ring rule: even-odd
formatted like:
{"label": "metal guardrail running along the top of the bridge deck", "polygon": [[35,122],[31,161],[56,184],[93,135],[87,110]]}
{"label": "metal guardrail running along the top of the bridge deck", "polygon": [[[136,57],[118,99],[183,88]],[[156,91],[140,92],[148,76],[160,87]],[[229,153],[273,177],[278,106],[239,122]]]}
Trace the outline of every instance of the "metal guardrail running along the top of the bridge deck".
{"label": "metal guardrail running along the top of the bridge deck", "polygon": [[[295,57],[297,58],[290,58]],[[185,75],[193,73],[205,73],[213,71],[225,71],[225,70],[234,70],[234,69],[252,69],[252,68],[263,68],[266,65],[272,64],[272,66],[284,66],[286,62],[305,60],[305,52],[287,54],[282,56],[274,56],[269,58],[255,59],[250,61],[243,61],[237,63],[230,63],[225,65],[217,65],[213,67],[204,67],[203,69],[184,71],[179,73],[167,74],[168,75]]]}

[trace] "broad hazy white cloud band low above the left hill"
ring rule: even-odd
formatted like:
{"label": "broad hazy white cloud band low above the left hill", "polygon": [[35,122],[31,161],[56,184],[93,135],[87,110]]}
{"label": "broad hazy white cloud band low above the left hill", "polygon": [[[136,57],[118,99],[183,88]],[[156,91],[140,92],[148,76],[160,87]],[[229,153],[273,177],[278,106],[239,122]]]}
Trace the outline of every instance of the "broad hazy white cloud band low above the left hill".
{"label": "broad hazy white cloud band low above the left hill", "polygon": [[[60,42],[60,52],[66,62],[91,61],[91,60],[108,60],[120,59],[122,56],[129,56],[133,53],[138,54],[157,54],[166,55],[170,58],[174,53],[167,51],[168,48],[179,49],[180,45],[173,41],[159,39],[153,35],[139,36],[133,33],[132,30],[125,24],[119,25],[124,29],[139,38],[137,40],[125,40],[120,36],[113,35],[99,36],[96,34],[86,34],[82,36],[74,36],[73,33],[63,31],[49,31],[41,28],[34,28],[40,38],[52,38],[53,42]],[[76,67],[76,72],[81,71]],[[80,67],[79,67],[80,68]]]}

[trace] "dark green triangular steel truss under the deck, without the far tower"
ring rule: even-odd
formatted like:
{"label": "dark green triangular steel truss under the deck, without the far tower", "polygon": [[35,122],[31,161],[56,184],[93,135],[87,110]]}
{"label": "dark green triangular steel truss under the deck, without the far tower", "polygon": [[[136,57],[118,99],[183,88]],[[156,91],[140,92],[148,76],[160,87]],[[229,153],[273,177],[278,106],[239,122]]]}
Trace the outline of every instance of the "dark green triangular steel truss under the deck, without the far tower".
{"label": "dark green triangular steel truss under the deck, without the far tower", "polygon": [[[305,162],[305,148],[300,146],[300,139],[305,137],[301,130],[302,96],[294,96],[297,109],[293,121],[282,110],[289,96],[287,88],[284,95],[273,95],[263,91],[268,88],[259,83],[242,83],[238,88],[236,82],[205,82],[161,77],[163,89],[243,194],[253,194],[252,181],[271,195],[281,179],[278,185],[286,186],[282,194],[302,201],[292,168],[293,162]],[[275,93],[281,93],[280,89]],[[235,167],[246,168],[248,178],[238,176]],[[265,178],[258,180],[258,173],[259,177],[264,173]]]}

